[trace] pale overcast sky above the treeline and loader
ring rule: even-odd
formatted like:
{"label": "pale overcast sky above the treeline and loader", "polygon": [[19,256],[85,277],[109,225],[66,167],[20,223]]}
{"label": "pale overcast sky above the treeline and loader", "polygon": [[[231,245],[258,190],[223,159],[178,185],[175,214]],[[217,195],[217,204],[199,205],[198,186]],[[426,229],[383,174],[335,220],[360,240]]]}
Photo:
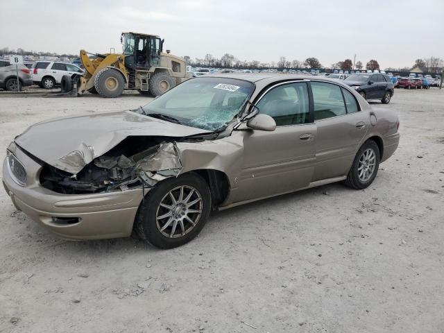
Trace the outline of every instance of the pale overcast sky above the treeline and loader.
{"label": "pale overcast sky above the treeline and loader", "polygon": [[121,50],[122,31],[153,33],[178,56],[325,67],[374,58],[382,68],[444,58],[444,0],[1,1],[0,48],[78,53]]}

